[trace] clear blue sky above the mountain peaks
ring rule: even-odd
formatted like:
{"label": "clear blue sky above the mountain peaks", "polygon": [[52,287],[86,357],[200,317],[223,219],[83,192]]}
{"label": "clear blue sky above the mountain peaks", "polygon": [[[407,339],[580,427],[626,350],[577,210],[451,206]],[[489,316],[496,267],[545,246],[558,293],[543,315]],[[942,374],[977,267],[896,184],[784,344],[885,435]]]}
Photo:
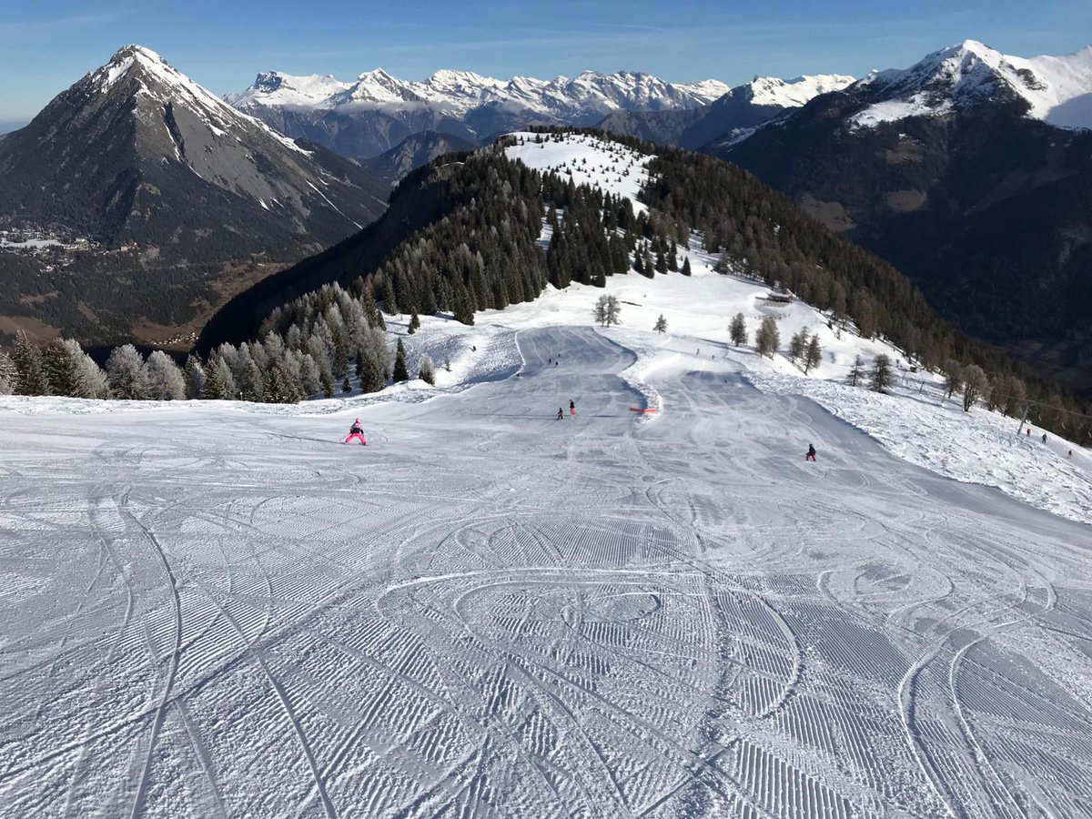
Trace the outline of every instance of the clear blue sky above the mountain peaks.
{"label": "clear blue sky above the mountain peaks", "polygon": [[629,69],[736,85],[902,68],[966,38],[1068,54],[1092,43],[1092,0],[0,0],[0,126],[29,119],[127,43],[223,94],[266,69],[352,79],[376,67],[405,79]]}

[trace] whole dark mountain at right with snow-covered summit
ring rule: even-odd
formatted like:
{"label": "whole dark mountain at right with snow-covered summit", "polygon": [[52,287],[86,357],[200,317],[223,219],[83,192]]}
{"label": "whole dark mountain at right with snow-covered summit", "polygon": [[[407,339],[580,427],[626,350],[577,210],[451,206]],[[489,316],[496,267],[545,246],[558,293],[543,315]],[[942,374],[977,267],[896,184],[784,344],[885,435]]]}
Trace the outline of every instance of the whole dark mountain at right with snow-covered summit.
{"label": "whole dark mountain at right with snow-covered summit", "polygon": [[1092,391],[1092,47],[975,40],[705,151],[877,251],[969,332]]}

